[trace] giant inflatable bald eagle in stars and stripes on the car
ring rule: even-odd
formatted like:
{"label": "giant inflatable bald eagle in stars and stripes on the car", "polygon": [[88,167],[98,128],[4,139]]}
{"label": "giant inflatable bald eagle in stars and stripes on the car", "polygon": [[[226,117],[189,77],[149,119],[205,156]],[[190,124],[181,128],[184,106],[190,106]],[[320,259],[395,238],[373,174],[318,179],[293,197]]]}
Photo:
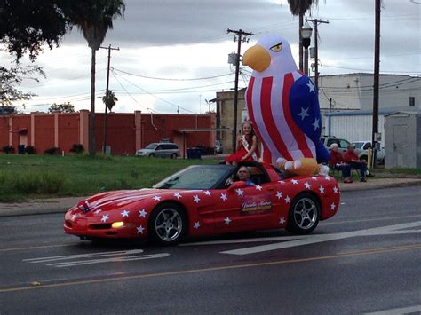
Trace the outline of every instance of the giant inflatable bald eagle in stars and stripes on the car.
{"label": "giant inflatable bald eagle in stars and stripes on the car", "polygon": [[329,161],[322,145],[319,101],[314,83],[296,66],[290,44],[266,35],[244,53],[254,71],[246,91],[250,121],[262,143],[262,160],[306,175]]}

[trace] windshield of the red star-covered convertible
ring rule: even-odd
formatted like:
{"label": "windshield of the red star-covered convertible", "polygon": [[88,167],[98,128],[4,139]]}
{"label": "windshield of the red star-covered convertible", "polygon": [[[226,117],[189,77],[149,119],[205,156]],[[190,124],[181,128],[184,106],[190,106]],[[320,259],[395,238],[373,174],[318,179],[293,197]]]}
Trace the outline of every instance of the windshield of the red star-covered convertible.
{"label": "windshield of the red star-covered convertible", "polygon": [[234,169],[231,165],[194,165],[163,179],[158,189],[211,189]]}

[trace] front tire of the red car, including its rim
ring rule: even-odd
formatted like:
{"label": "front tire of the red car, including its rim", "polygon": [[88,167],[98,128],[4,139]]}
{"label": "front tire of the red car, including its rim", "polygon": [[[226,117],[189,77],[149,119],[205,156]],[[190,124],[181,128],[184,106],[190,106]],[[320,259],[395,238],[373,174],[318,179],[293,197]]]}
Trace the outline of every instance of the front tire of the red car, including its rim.
{"label": "front tire of the red car, including its rim", "polygon": [[187,233],[187,216],[175,203],[163,203],[149,218],[151,240],[163,245],[175,245]]}

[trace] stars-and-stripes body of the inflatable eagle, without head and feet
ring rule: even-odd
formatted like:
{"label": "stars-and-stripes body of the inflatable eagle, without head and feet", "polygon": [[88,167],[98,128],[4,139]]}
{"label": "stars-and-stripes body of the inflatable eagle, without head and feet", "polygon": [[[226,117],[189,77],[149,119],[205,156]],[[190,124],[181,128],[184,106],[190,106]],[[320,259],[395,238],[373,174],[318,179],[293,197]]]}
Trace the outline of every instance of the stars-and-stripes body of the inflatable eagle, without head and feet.
{"label": "stars-and-stripes body of the inflatable eagle, without head and feet", "polygon": [[285,75],[252,76],[246,103],[262,143],[263,161],[329,160],[329,153],[320,142],[322,120],[317,91],[306,75],[294,71]]}

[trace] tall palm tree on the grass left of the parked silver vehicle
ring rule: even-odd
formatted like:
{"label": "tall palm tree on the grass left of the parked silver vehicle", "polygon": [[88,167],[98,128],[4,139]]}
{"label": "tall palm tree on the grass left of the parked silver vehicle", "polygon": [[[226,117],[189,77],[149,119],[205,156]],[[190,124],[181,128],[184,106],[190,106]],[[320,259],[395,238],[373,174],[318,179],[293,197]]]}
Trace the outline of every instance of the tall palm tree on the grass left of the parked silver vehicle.
{"label": "tall palm tree on the grass left of the parked silver vehicle", "polygon": [[123,0],[84,0],[69,4],[68,17],[91,48],[91,113],[89,116],[89,154],[95,155],[95,53],[104,41],[107,30],[113,28],[113,20],[123,17]]}

